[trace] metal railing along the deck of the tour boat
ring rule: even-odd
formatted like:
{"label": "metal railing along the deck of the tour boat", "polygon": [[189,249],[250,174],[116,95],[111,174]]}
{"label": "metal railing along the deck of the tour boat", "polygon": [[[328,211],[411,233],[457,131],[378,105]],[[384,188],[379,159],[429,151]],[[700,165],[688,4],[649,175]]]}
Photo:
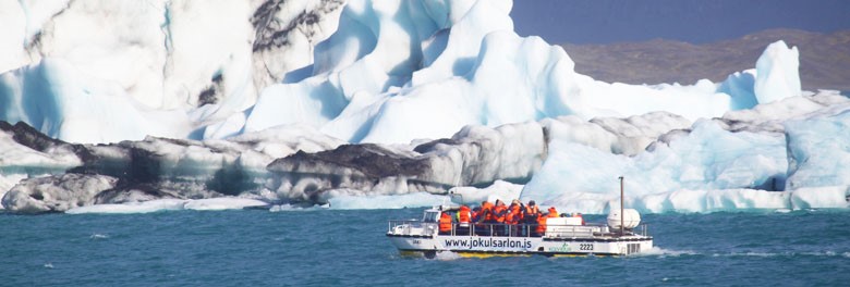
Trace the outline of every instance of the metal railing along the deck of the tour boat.
{"label": "metal railing along the deck of the tour boat", "polygon": [[[499,237],[547,237],[547,238],[570,238],[570,237],[594,237],[604,235],[617,235],[618,230],[612,230],[604,223],[586,223],[582,225],[562,225],[548,224],[545,230],[538,228],[538,224],[519,223],[469,223],[461,224],[453,222],[451,230],[439,232],[439,223],[423,222],[416,220],[389,221],[388,234],[392,235],[451,235],[451,236],[499,236]],[[627,229],[624,235],[648,234],[646,224],[641,224],[636,228]]]}

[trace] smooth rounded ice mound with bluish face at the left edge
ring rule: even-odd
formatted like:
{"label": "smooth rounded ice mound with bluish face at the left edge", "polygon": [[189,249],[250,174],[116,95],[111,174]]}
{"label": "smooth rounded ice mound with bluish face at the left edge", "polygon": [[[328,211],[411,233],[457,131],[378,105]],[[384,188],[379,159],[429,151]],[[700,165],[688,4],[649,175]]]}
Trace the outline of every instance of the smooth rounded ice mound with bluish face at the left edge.
{"label": "smooth rounded ice mound with bluish face at the left edge", "polygon": [[64,59],[48,58],[0,75],[0,118],[83,144],[146,135],[179,138],[191,130],[184,112],[146,109],[114,83],[88,80],[82,74]]}

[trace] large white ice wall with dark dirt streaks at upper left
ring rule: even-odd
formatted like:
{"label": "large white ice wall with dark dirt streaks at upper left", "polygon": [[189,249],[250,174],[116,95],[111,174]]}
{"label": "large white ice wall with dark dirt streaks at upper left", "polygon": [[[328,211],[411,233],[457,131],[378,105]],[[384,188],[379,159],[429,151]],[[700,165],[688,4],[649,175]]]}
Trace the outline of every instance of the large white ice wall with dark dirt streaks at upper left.
{"label": "large white ice wall with dark dirt streaks at upper left", "polygon": [[342,10],[339,1],[0,5],[9,24],[0,25],[0,120],[95,144],[238,134],[258,91],[311,64]]}

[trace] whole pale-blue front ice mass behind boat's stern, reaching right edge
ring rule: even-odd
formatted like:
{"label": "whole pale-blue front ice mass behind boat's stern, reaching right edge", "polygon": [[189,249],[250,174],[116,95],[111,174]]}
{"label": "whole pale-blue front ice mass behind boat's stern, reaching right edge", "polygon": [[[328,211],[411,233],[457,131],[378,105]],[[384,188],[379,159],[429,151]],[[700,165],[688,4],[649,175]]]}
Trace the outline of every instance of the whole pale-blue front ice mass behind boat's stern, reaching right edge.
{"label": "whole pale-blue front ice mass behind boat's stern, reaching right edge", "polygon": [[647,212],[847,208],[848,111],[836,92],[788,98],[697,121],[634,157],[556,137],[522,199],[604,213],[623,175],[627,205]]}

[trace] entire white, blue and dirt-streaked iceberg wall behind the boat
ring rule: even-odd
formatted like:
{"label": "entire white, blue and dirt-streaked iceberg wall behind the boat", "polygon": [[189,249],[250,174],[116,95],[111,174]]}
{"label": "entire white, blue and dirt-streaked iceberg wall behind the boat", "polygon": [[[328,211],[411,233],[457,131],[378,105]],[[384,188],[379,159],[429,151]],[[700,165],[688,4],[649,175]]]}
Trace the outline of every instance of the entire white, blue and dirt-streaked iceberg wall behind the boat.
{"label": "entire white, blue and dirt-streaked iceberg wall behind the boat", "polygon": [[511,8],[2,1],[0,120],[34,127],[0,133],[3,205],[381,208],[452,190],[603,213],[623,175],[651,212],[847,207],[850,100],[802,91],[797,47],[722,83],[603,83],[518,36]]}

